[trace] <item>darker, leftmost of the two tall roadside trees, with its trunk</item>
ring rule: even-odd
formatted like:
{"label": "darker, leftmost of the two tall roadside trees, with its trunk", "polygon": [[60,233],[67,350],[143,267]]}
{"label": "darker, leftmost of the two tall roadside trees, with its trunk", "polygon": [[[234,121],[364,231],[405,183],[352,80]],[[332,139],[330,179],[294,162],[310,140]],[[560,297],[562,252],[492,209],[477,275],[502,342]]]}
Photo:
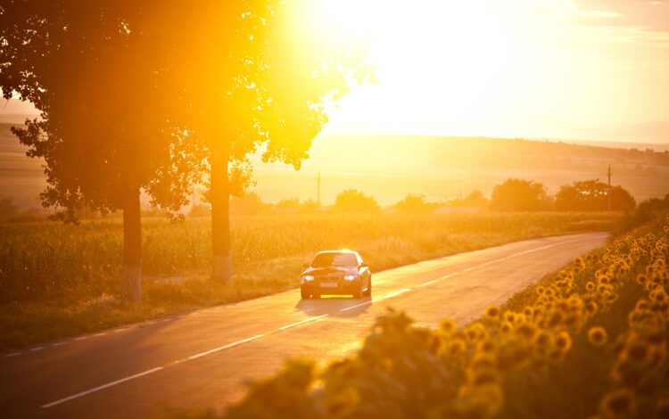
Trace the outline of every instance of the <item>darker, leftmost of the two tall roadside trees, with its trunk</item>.
{"label": "darker, leftmost of the two tall roadside trees, with its trunk", "polygon": [[155,24],[159,10],[111,0],[10,1],[0,10],[4,97],[17,91],[41,111],[13,132],[29,157],[45,159],[43,204],[64,209],[68,222],[84,206],[122,209],[132,300],[141,299],[140,190],[178,209],[201,161],[194,137],[170,120],[178,91],[162,75],[174,35]]}

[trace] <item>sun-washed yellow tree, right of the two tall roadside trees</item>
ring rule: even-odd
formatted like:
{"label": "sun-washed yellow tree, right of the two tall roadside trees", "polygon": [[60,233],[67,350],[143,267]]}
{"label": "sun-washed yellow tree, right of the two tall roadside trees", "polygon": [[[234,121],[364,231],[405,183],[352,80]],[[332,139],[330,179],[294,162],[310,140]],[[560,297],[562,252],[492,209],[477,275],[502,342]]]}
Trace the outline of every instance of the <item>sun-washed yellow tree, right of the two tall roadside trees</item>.
{"label": "sun-washed yellow tree, right of the two tall roadside trees", "polygon": [[213,278],[232,277],[229,200],[251,175],[246,156],[265,144],[263,160],[300,168],[326,123],[326,104],[370,77],[367,51],[310,31],[300,15],[308,3],[203,2],[182,18],[200,28],[183,37],[185,53],[176,56],[192,126],[207,144]]}

